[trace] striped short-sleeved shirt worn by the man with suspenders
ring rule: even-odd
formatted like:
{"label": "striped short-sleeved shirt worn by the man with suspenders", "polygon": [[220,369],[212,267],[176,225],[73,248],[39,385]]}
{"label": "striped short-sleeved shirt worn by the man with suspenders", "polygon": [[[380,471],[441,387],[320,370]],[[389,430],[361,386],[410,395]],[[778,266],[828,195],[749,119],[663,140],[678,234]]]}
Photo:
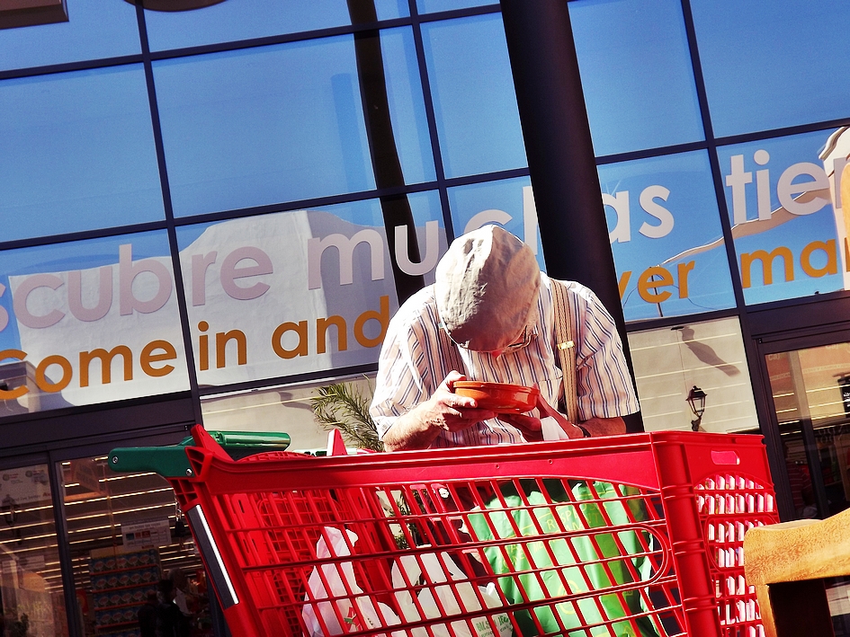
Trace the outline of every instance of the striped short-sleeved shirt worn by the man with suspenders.
{"label": "striped short-sleeved shirt worn by the man with suspenders", "polygon": [[[595,294],[574,281],[564,282],[576,326],[576,367],[580,420],[624,416],[640,409],[613,319]],[[555,349],[555,316],[550,280],[541,274],[541,293],[533,326],[539,336],[523,349],[498,358],[458,347],[439,328],[434,288],[428,286],[398,308],[380,350],[371,416],[381,436],[398,416],[427,400],[452,370],[470,380],[540,387],[550,405],[558,404],[561,371]],[[530,326],[531,328],[532,326]],[[540,416],[537,410],[531,412]],[[519,429],[501,420],[483,420],[463,431],[444,431],[431,447],[466,447],[523,442]]]}

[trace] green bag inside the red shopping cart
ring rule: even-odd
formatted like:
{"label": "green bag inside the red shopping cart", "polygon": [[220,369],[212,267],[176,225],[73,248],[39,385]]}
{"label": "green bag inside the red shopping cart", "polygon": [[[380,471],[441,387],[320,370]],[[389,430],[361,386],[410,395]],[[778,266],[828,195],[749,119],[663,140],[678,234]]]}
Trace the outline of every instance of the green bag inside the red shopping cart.
{"label": "green bag inside the red shopping cart", "polygon": [[[524,500],[533,508],[532,510],[524,508],[523,496],[517,492],[514,483],[506,483],[500,488],[502,499],[505,501],[506,507],[513,510],[499,511],[498,509],[502,509],[502,504],[497,497],[488,502],[487,514],[473,513],[470,514],[469,518],[471,529],[480,540],[516,537],[514,525],[521,537],[541,536],[540,541],[509,544],[504,547],[504,553],[498,546],[488,546],[484,550],[491,568],[497,575],[523,573],[519,576],[497,580],[499,587],[502,588],[511,604],[523,603],[521,588],[524,589],[529,600],[546,601],[552,597],[574,595],[588,590],[628,584],[635,580],[632,576],[633,572],[640,576],[640,581],[649,579],[651,563],[642,554],[646,553],[649,542],[645,532],[621,531],[617,533],[616,539],[613,534],[596,532],[589,535],[579,534],[569,538],[560,537],[549,540],[545,539],[545,535],[541,535],[541,532],[543,534],[556,533],[562,529],[578,531],[604,527],[607,523],[603,511],[600,509],[601,506],[604,507],[605,514],[614,525],[646,519],[648,516],[642,500],[623,498],[623,496],[636,494],[637,490],[621,486],[621,491],[618,493],[613,484],[609,482],[595,482],[592,491],[587,482],[569,482],[568,486],[572,492],[572,497],[569,497],[563,482],[544,480],[543,485],[549,494],[550,501],[564,503],[550,505],[541,493],[536,481],[523,480],[519,482],[523,490]],[[596,500],[597,498],[608,501],[604,501],[601,505],[598,502],[586,501]],[[583,503],[577,503],[579,501]],[[520,507],[523,507],[523,509],[514,509]],[[532,515],[534,518],[532,518]],[[558,516],[560,521],[554,518],[555,515]],[[489,518],[490,524],[488,524],[485,516]],[[508,516],[512,519],[509,519]],[[490,525],[495,529],[495,534]],[[642,537],[639,537],[639,534]],[[593,539],[591,539],[591,536]],[[617,540],[622,545],[622,550],[618,546]],[[610,577],[603,564],[584,563],[619,555],[624,556],[622,560],[606,562],[608,571],[611,573]],[[629,555],[638,556],[629,557]],[[576,559],[576,556],[578,559]],[[552,557],[554,557],[554,561]],[[631,564],[628,564],[627,561]],[[556,565],[563,568],[557,570],[550,568]],[[563,579],[561,579],[559,571],[563,575]],[[566,588],[564,579],[567,580]],[[598,604],[603,606],[604,615],[600,612],[597,601]],[[552,607],[557,609],[558,617],[552,612]],[[611,593],[585,597],[554,606],[542,605],[533,610],[546,633],[582,636],[588,634],[586,629],[583,628],[584,626],[602,624],[604,621],[615,620],[625,615],[640,614],[645,611],[646,606],[643,604],[638,589],[628,590],[619,595]],[[517,611],[514,613],[514,618],[522,629],[523,637],[532,637],[538,634],[538,629],[528,611]],[[566,632],[559,626],[559,619],[566,628]],[[612,625],[614,634],[618,637],[658,637],[659,634],[664,634],[660,626],[657,626],[654,620],[647,616],[615,622]],[[576,629],[576,631],[571,632],[570,629]],[[591,629],[589,634],[610,637],[612,633],[606,626],[600,625]]]}

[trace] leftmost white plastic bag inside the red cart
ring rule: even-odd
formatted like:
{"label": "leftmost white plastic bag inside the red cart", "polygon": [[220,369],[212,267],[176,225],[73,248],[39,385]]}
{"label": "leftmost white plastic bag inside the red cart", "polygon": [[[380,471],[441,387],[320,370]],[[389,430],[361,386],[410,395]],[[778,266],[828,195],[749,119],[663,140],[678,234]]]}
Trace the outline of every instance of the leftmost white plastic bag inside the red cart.
{"label": "leftmost white plastic bag inside the red cart", "polygon": [[[357,534],[353,533],[353,531],[345,531],[345,533],[348,534],[348,539],[352,545],[357,542]],[[327,545],[324,537],[318,541],[316,544],[316,555],[319,559],[351,555],[342,531],[333,526],[326,526],[325,535],[330,539],[331,545]],[[305,601],[308,603],[301,610],[301,616],[307,624],[310,637],[342,635],[354,631],[369,630],[380,626],[391,626],[401,623],[398,615],[389,606],[380,602],[373,602],[368,595],[362,595],[362,588],[357,586],[354,578],[352,562],[325,564],[321,567],[321,570],[330,587],[330,594],[328,594],[322,582],[318,569],[314,567],[308,579],[310,592],[305,597]],[[342,578],[344,578],[345,584]],[[345,588],[346,584],[348,585],[347,590]],[[331,597],[344,598],[331,599]],[[327,599],[328,601],[318,601],[320,599]],[[337,612],[343,618],[344,624],[340,624],[336,615]],[[327,633],[323,630],[318,616],[321,616],[322,620],[324,620],[327,626]],[[404,633],[393,633],[392,637],[402,634]]]}

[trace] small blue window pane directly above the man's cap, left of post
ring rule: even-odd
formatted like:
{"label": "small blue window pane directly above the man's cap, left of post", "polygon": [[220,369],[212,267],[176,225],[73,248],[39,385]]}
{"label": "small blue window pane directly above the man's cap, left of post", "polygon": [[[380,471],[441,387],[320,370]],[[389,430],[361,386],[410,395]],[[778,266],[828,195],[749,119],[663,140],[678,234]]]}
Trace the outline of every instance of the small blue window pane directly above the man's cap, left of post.
{"label": "small blue window pane directly above the man's cap, left of post", "polygon": [[528,243],[541,270],[546,271],[532,181],[528,177],[450,188],[449,207],[455,236],[485,224],[498,224]]}

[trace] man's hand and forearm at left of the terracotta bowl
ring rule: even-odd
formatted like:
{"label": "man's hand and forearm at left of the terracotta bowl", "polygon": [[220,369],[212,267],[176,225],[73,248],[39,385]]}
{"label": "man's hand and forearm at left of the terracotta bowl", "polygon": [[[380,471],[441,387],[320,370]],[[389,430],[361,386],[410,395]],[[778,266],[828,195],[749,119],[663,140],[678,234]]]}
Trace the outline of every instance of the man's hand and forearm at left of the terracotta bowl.
{"label": "man's hand and forearm at left of the terracotta bowl", "polygon": [[454,394],[454,383],[459,380],[466,380],[466,376],[449,372],[428,400],[399,416],[384,434],[384,448],[388,451],[425,449],[441,431],[462,431],[481,420],[495,418],[493,411],[479,409],[474,398]]}

